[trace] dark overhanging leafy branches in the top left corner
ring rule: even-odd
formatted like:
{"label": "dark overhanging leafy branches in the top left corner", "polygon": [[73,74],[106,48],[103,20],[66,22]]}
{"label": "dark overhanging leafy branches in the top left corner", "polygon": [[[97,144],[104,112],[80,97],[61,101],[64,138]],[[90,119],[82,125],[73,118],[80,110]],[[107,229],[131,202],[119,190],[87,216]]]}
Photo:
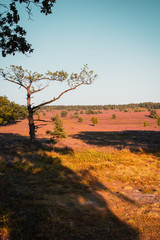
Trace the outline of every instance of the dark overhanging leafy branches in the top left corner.
{"label": "dark overhanging leafy branches in the top left corner", "polygon": [[[32,5],[39,7],[40,12],[48,15],[56,0],[9,0],[0,3],[0,48],[2,56],[16,52],[31,53],[32,45],[26,40],[26,30],[19,25],[20,13],[18,4],[25,6],[29,19],[32,15]],[[7,2],[7,3],[6,3]]]}

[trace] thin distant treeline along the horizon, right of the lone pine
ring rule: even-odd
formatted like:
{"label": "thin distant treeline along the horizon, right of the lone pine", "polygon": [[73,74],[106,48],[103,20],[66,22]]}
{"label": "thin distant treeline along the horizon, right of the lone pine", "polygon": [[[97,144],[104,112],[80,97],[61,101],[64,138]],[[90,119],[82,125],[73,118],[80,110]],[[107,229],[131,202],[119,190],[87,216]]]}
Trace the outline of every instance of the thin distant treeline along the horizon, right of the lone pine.
{"label": "thin distant treeline along the horizon, right of the lone pine", "polygon": [[148,109],[160,109],[160,103],[144,102],[144,103],[130,103],[123,105],[57,105],[57,106],[43,106],[41,110],[52,111],[52,110],[62,110],[67,111],[80,111],[80,110],[119,110],[127,111],[128,109],[133,109],[135,111],[140,111],[141,108]]}

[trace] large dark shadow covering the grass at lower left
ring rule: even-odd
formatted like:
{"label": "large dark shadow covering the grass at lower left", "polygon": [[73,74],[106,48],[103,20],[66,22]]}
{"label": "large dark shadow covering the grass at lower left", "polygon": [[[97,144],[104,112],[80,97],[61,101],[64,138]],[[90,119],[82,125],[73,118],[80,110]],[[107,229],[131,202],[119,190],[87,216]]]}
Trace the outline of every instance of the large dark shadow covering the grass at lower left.
{"label": "large dark shadow covering the grass at lower left", "polygon": [[[29,140],[19,135],[0,134],[0,236],[6,234],[8,240],[139,239],[138,230],[121,221],[92,184],[82,183],[86,173],[76,174],[45,150],[52,151],[41,143],[31,148]],[[74,153],[65,149],[64,154]],[[98,190],[112,194],[89,172],[88,177],[94,178]],[[117,197],[135,204],[123,195]]]}

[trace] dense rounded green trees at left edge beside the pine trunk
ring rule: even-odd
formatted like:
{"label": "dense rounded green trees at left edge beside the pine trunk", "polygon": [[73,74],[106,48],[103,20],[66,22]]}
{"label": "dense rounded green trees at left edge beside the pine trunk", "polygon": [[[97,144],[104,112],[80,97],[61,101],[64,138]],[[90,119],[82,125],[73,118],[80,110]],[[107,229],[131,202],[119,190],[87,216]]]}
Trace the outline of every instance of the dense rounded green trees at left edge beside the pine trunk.
{"label": "dense rounded green trees at left edge beside the pine trunk", "polygon": [[10,102],[7,97],[0,96],[0,125],[15,122],[18,119],[27,117],[27,108],[14,102]]}

